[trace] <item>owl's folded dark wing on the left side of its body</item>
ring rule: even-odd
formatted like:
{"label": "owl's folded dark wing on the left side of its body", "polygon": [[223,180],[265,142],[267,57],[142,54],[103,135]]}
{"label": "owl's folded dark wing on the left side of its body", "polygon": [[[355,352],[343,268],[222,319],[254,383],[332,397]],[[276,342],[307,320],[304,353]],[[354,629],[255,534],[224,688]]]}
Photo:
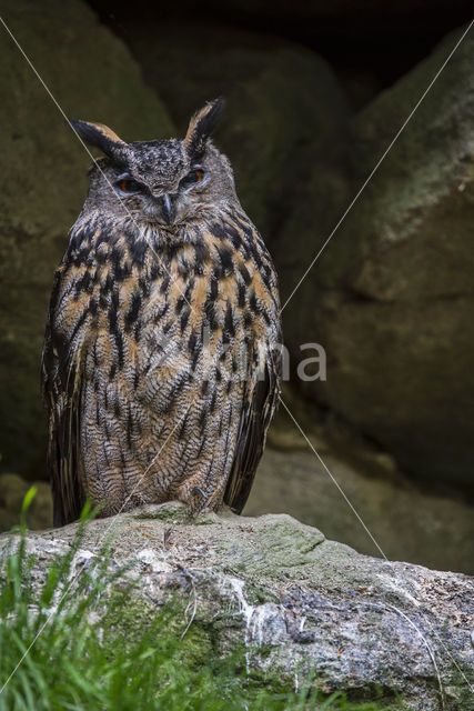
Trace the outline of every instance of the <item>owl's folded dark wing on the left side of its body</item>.
{"label": "owl's folded dark wing on the left side of its body", "polygon": [[79,455],[83,362],[52,327],[60,276],[56,276],[48,313],[41,363],[43,402],[48,414],[48,467],[53,495],[53,524],[64,525],[80,517],[85,494],[80,483]]}

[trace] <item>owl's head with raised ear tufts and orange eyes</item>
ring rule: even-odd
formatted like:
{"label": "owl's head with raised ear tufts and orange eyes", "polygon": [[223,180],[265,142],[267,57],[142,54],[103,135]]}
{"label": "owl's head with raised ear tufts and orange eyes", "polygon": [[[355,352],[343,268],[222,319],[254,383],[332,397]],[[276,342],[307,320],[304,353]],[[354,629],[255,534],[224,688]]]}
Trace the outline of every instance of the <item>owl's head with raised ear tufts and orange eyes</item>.
{"label": "owl's head with raised ear tufts and orange eyes", "polygon": [[114,214],[123,209],[134,220],[170,229],[202,219],[219,203],[238,202],[231,166],[210,141],[223,107],[221,98],[206,103],[181,140],[125,143],[102,123],[70,121],[82,140],[105,154],[90,172],[88,208]]}

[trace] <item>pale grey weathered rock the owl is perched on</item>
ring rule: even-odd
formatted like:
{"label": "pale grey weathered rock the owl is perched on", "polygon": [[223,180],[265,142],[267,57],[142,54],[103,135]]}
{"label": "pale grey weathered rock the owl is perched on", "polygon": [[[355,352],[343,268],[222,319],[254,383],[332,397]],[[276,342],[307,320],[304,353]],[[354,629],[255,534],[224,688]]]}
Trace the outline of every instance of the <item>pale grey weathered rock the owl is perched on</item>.
{"label": "pale grey weathered rock the owl is perched on", "polygon": [[[75,531],[28,533],[33,580]],[[249,669],[272,669],[291,684],[313,675],[325,692],[370,700],[379,689],[382,701],[399,694],[406,709],[471,708],[473,580],[465,575],[361,555],[285,514],[190,522],[172,502],[90,523],[73,579],[110,534],[110,564],[134,563],[139,605],[155,614],[181,591],[192,628],[203,644],[212,639],[206,649],[245,643]],[[0,537],[0,548],[8,541]]]}

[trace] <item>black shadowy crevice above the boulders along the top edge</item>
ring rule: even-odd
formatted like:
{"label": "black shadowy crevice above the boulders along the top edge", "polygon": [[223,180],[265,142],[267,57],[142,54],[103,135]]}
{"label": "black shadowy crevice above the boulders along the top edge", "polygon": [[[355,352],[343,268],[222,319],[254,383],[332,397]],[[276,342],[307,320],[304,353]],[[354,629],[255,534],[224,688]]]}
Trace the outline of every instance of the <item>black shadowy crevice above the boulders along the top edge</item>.
{"label": "black shadowy crevice above the boulders along the top edge", "polygon": [[208,1],[164,7],[137,0],[133,3],[90,0],[101,21],[128,41],[139,26],[159,31],[175,23],[183,30],[221,26],[297,42],[321,54],[341,81],[373,83],[382,90],[423,60],[450,31],[472,19],[467,0],[433,2],[327,2],[279,3]]}

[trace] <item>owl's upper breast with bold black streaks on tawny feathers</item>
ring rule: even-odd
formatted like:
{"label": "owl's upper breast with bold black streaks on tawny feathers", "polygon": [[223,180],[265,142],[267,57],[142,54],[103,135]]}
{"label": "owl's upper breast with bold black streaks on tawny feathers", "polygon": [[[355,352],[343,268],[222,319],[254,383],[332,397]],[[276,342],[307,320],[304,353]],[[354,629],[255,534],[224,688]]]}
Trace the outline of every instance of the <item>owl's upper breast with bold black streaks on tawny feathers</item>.
{"label": "owl's upper breast with bold black streaks on tawny feathers", "polygon": [[81,354],[95,390],[113,381],[152,400],[170,382],[232,377],[255,341],[279,340],[276,278],[244,213],[162,249],[112,237],[72,242],[53,307],[57,340],[69,360]]}

